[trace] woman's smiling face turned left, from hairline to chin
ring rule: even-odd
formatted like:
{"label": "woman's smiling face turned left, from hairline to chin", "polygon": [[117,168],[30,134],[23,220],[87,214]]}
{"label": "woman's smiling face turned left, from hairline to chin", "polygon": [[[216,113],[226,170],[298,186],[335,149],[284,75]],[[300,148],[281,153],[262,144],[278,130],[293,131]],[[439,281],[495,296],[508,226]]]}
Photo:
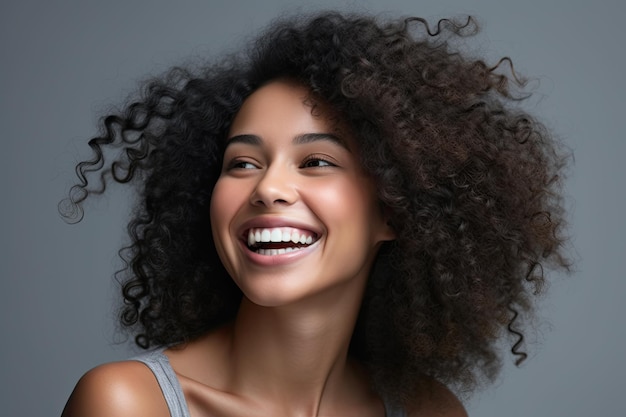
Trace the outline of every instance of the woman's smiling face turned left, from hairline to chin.
{"label": "woman's smiling face turned left, from hairline to chin", "polygon": [[313,115],[307,95],[273,81],[244,102],[213,191],[220,259],[260,305],[360,288],[379,244],[393,238],[356,142],[323,105]]}

